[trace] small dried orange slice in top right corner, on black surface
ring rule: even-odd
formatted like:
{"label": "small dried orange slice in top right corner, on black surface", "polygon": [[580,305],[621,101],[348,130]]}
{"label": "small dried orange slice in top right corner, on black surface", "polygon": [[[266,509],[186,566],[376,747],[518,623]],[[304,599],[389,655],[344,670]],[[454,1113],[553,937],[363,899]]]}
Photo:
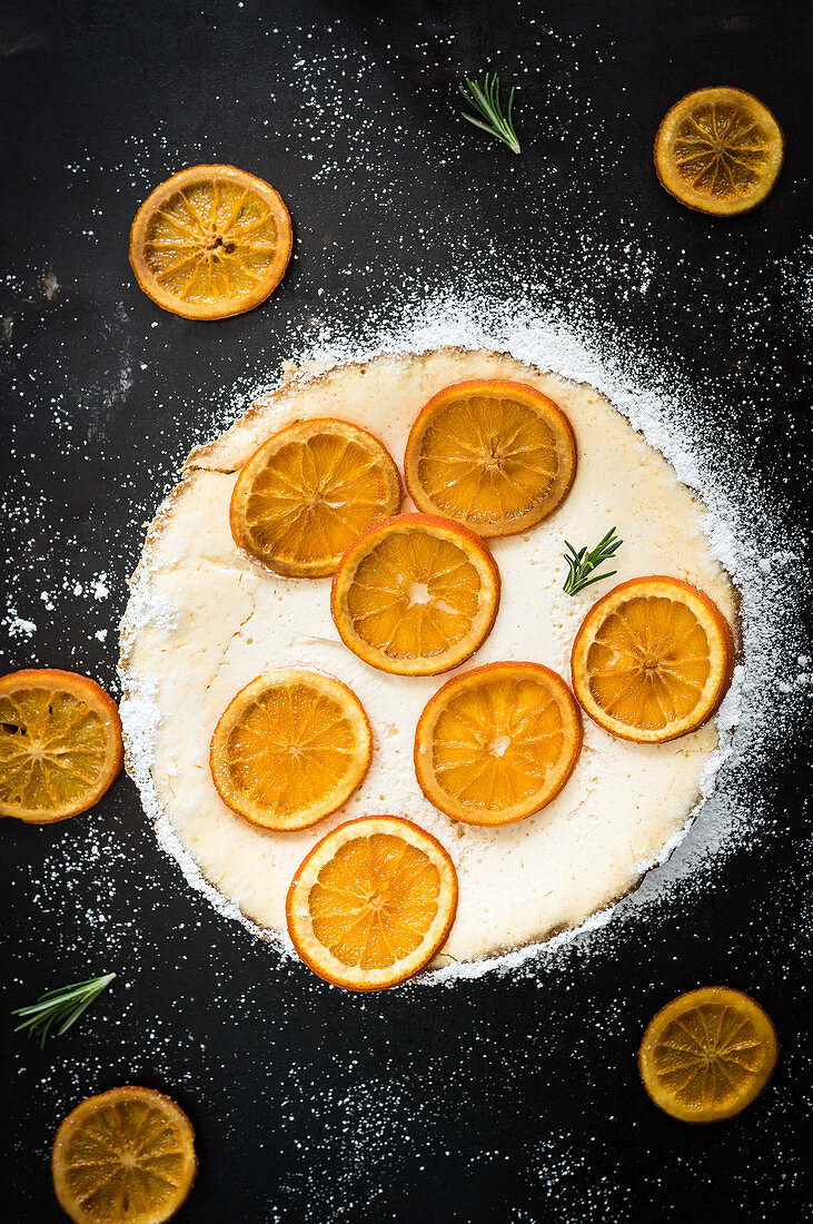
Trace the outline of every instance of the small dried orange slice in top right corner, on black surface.
{"label": "small dried orange slice in top right corner, on black surface", "polygon": [[785,137],[753,94],[696,89],[668,111],[654,157],[658,177],[681,204],[731,217],[770,195],[785,160]]}

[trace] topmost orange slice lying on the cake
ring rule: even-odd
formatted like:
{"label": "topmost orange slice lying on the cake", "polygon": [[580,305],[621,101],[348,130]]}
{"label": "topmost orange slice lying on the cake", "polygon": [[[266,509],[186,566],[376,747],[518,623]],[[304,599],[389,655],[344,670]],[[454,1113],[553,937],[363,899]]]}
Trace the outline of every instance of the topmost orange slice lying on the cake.
{"label": "topmost orange slice lying on the cake", "polygon": [[482,536],[526,531],[564,501],[576,439],[551,399],[523,383],[483,378],[433,397],[403,459],[412,501]]}

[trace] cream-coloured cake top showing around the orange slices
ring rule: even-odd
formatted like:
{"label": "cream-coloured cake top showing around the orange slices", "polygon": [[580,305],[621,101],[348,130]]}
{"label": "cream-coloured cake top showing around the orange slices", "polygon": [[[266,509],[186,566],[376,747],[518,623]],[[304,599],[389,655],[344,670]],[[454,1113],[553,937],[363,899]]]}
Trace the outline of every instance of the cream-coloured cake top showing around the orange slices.
{"label": "cream-coloured cake top showing around the orange slices", "polygon": [[[736,627],[734,589],[703,534],[702,503],[593,388],[505,354],[457,349],[293,377],[189,455],[183,480],[153,523],[122,622],[130,765],[148,707],[150,786],[161,820],[170,821],[203,876],[260,928],[285,929],[290,880],[315,841],[344,820],[390,813],[434,834],[457,869],[457,917],[435,966],[544,940],[633,889],[699,799],[718,744],[714,720],[672,743],[639,745],[586,718],[581,758],[548,808],[502,829],[458,825],[428,803],[412,765],[418,715],[455,672],[411,678],[368,667],[334,628],[330,579],[281,578],[236,548],[229,530],[236,474],[275,430],[300,417],[344,417],[375,433],[401,466],[425,401],[450,383],[482,377],[512,378],[550,395],[576,433],[578,468],[550,519],[491,542],[502,578],[500,610],[491,634],[460,671],[533,660],[568,678],[573,635],[587,608],[615,583],[643,574],[687,579]],[[406,499],[403,509],[412,508]],[[565,540],[592,547],[611,526],[625,541],[614,561],[617,577],[565,595]],[[290,665],[348,684],[368,714],[374,748],[364,783],[340,812],[312,829],[280,834],[225,807],[208,755],[214,726],[238,689],[263,671]],[[133,772],[143,783],[139,770]]]}

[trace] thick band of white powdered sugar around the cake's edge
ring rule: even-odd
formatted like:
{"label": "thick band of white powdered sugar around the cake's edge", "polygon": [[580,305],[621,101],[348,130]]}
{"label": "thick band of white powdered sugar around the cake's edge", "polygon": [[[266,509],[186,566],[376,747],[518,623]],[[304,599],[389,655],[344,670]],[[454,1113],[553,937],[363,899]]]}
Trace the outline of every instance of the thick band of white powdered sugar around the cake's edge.
{"label": "thick band of white powdered sugar around the cake's edge", "polygon": [[[735,847],[748,838],[758,840],[764,830],[748,802],[752,798],[748,774],[760,755],[770,752],[785,734],[796,711],[792,701],[778,709],[767,696],[776,690],[796,693],[806,685],[809,672],[809,659],[801,651],[795,619],[793,586],[787,581],[789,570],[798,564],[798,554],[780,537],[765,491],[754,481],[743,480],[741,472],[729,474],[726,479],[718,465],[709,463],[715,459],[714,449],[702,446],[692,427],[697,397],[674,370],[663,366],[654,370],[652,362],[633,349],[608,345],[605,338],[592,335],[584,323],[577,326],[564,312],[542,307],[540,296],[531,284],[511,300],[477,293],[427,293],[425,286],[416,284],[405,289],[397,307],[368,316],[352,329],[346,324],[333,327],[320,322],[315,334],[295,337],[290,356],[298,365],[317,364],[313,373],[306,368],[298,376],[307,383],[325,365],[364,361],[379,353],[419,353],[450,344],[506,350],[521,361],[597,387],[650,446],[663,452],[679,477],[701,494],[707,507],[704,529],[712,550],[732,575],[741,595],[745,662],[737,666],[731,690],[718,715],[720,743],[705,766],[702,799],[685,829],[664,847],[658,859],[639,864],[642,874],[648,874],[636,892],[594,914],[576,930],[502,956],[425,973],[417,979],[422,984],[450,984],[487,972],[516,973],[529,967],[553,967],[560,949],[575,940],[584,949],[598,951],[603,941],[611,938],[610,919],[632,918],[663,905],[682,887],[697,886],[719,869],[720,862]],[[270,386],[273,383],[262,378],[241,386],[232,397],[226,420],[218,422],[215,433]],[[155,792],[150,760],[159,712],[153,694],[136,688],[128,677],[126,654],[130,639],[141,625],[150,621],[169,623],[171,616],[166,601],[150,589],[147,550],[122,622],[121,712],[130,770],[155,821],[161,846],[177,859],[188,883],[224,916],[240,919],[249,930],[265,939],[270,936],[276,946],[290,952],[286,934],[260,931],[202,876],[175,835]],[[797,660],[798,671],[791,679],[789,667],[792,671]]]}

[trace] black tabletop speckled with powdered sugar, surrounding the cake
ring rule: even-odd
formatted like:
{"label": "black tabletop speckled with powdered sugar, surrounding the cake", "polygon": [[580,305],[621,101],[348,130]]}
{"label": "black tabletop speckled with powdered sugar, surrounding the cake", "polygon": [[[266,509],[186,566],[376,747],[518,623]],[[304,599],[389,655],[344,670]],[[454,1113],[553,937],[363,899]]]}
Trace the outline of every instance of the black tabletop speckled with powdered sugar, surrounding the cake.
{"label": "black tabletop speckled with powdered sugar, surrounding the cake", "polygon": [[[778,523],[803,524],[806,315],[787,269],[809,223],[804,0],[20,0],[0,44],[4,578],[38,627],[4,640],[4,671],[66,666],[115,692],[141,524],[188,444],[223,425],[224,388],[271,373],[292,328],[397,312],[406,280],[502,291],[527,277],[565,312],[577,296],[599,332],[698,386],[696,435],[726,431]],[[518,73],[521,159],[456,119],[455,82],[487,66]],[[753,91],[787,135],[775,195],[723,224],[674,203],[649,162],[661,114],[710,83]],[[149,187],[198,160],[267,176],[296,224],[280,291],[223,324],[161,313],[126,259]],[[628,289],[638,251],[647,294]],[[99,572],[109,599],[75,594]],[[186,886],[126,778],[62,826],[6,823],[2,1218],[61,1218],[56,1122],[126,1082],[169,1092],[198,1131],[178,1220],[811,1218],[796,727],[773,760],[742,766],[756,831],[702,887],[619,924],[599,951],[576,944],[546,968],[449,989],[314,985]],[[9,1037],[11,1006],[105,968],[119,980],[71,1036],[44,1051]],[[649,1104],[635,1051],[657,1007],[716,982],[763,1001],[782,1056],[747,1114],[692,1130]]]}

